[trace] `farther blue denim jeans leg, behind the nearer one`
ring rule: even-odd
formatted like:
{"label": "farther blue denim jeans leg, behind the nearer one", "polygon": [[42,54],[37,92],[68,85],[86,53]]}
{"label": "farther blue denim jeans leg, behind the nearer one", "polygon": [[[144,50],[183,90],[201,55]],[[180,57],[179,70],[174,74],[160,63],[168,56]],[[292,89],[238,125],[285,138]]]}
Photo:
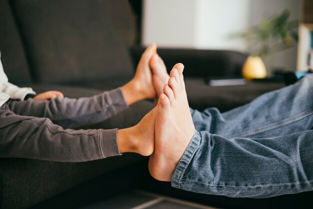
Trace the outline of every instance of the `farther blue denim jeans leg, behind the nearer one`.
{"label": "farther blue denim jeans leg, behind the nearer one", "polygon": [[265,93],[252,102],[220,113],[191,109],[195,129],[233,137],[272,137],[308,130],[313,119],[313,76]]}

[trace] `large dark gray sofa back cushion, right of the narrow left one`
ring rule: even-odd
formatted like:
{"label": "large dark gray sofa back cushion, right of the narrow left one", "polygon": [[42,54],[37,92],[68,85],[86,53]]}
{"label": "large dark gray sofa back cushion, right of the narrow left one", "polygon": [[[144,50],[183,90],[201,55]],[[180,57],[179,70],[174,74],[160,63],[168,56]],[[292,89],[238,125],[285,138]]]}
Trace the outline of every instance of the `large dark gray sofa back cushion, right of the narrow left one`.
{"label": "large dark gray sofa back cushion, right of the narrow left one", "polygon": [[11,0],[11,7],[35,81],[100,81],[133,73],[104,0]]}

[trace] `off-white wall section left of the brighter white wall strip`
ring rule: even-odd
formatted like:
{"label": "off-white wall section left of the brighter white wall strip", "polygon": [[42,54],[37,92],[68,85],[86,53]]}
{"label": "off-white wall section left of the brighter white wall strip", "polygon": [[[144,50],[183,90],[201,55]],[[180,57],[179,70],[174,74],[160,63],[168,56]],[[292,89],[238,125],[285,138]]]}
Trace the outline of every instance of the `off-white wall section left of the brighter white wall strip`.
{"label": "off-white wall section left of the brighter white wall strip", "polygon": [[193,0],[144,0],[142,7],[143,45],[194,47]]}

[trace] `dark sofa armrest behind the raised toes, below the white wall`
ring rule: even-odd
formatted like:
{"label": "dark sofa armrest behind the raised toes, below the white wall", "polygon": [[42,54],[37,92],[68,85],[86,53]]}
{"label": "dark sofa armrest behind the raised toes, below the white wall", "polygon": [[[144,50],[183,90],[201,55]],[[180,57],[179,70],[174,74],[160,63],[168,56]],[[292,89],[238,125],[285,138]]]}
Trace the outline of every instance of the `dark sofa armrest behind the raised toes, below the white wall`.
{"label": "dark sofa armrest behind the raised toes, below the white wall", "polygon": [[[142,46],[130,47],[134,69],[143,51]],[[244,53],[230,50],[158,48],[157,53],[164,60],[167,71],[181,62],[185,66],[184,76],[188,77],[240,76],[247,58]]]}

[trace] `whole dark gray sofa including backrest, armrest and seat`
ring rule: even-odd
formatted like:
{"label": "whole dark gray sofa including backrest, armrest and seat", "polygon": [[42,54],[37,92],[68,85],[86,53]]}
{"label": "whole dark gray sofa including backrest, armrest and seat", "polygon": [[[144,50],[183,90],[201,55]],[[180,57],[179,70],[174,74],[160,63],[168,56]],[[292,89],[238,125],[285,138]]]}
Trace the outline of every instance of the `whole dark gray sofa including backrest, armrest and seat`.
{"label": "whole dark gray sofa including backrest, armrest and seat", "polygon": [[[132,77],[143,50],[138,46],[128,49],[131,42],[127,37],[133,33],[119,27],[120,21],[131,23],[130,15],[126,0],[0,0],[0,51],[9,81],[31,86],[36,92],[60,90],[67,97],[90,96],[124,84]],[[282,86],[249,83],[218,88],[204,83],[203,76],[238,74],[246,58],[242,53],[158,52],[168,69],[175,62],[185,64],[189,103],[194,108],[228,110]],[[152,107],[151,101],[140,101],[108,120],[83,128],[128,127]],[[138,154],[80,163],[0,158],[0,207],[76,207],[138,187],[227,207],[253,204],[253,200],[247,206],[238,199],[177,191],[168,183],[151,179],[146,162],[147,157]]]}

